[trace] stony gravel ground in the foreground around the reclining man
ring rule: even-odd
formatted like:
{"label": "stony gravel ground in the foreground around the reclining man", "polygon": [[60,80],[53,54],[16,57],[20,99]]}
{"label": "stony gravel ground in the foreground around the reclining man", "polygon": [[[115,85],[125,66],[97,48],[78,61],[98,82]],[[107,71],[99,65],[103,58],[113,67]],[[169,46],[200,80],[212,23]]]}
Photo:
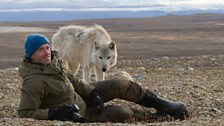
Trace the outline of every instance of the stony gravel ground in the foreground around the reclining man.
{"label": "stony gravel ground in the foreground around the reclining man", "polygon": [[[190,118],[184,121],[142,120],[128,124],[108,122],[79,125],[224,126],[224,55],[120,60],[116,69],[128,72],[135,81],[164,98],[185,102],[191,112]],[[77,125],[72,122],[18,118],[22,83],[18,68],[0,70],[0,78],[0,125]],[[119,99],[107,104],[154,111]]]}

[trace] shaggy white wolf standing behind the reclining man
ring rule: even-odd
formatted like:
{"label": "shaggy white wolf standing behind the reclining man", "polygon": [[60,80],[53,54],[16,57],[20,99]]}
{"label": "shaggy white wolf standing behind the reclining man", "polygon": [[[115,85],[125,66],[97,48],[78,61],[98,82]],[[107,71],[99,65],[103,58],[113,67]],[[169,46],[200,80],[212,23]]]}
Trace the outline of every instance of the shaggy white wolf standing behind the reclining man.
{"label": "shaggy white wolf standing behind the reclining man", "polygon": [[100,25],[92,27],[70,25],[61,27],[52,37],[52,49],[59,52],[67,69],[77,74],[82,67],[83,80],[90,83],[91,69],[96,80],[117,63],[117,47]]}

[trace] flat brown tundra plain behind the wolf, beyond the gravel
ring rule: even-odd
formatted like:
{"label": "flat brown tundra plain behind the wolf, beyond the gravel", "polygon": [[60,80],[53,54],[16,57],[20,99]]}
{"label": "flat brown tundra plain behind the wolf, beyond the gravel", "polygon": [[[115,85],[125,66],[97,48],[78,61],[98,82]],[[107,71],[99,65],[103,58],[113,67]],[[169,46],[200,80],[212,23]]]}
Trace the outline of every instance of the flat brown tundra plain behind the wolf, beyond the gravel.
{"label": "flat brown tundra plain behind the wolf, beyond the gravel", "polygon": [[24,55],[23,41],[29,33],[38,31],[51,38],[61,26],[93,24],[102,25],[110,33],[117,44],[120,59],[224,54],[223,14],[0,22],[0,68],[19,65]]}

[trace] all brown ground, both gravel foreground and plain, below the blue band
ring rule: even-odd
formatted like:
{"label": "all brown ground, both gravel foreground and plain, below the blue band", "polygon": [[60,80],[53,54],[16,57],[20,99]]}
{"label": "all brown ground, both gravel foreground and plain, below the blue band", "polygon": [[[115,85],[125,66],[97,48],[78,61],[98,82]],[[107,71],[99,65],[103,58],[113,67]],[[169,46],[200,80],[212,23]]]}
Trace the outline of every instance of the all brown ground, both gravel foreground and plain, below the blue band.
{"label": "all brown ground, both gravel foreground and plain, below the blue band", "polygon": [[[224,15],[167,15],[141,19],[101,19],[62,22],[0,22],[0,125],[77,125],[78,123],[22,119],[17,116],[27,34],[51,39],[60,26],[103,25],[118,47],[114,70],[127,72],[134,81],[160,96],[187,104],[191,116],[183,121],[165,118],[129,123],[78,125],[181,125],[224,126]],[[109,74],[109,73],[108,73]],[[129,78],[130,79],[130,78]],[[116,104],[155,111],[115,99]],[[147,116],[146,116],[147,117]]]}

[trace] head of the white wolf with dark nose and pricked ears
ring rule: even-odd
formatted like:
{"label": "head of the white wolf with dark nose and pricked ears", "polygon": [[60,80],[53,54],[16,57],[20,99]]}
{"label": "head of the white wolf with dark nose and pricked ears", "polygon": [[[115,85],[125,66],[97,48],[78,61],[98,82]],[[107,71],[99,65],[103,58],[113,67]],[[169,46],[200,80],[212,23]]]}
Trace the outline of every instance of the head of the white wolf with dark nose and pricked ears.
{"label": "head of the white wolf with dark nose and pricked ears", "polygon": [[106,72],[117,63],[117,48],[115,42],[110,42],[109,44],[95,42],[92,59],[99,69]]}

